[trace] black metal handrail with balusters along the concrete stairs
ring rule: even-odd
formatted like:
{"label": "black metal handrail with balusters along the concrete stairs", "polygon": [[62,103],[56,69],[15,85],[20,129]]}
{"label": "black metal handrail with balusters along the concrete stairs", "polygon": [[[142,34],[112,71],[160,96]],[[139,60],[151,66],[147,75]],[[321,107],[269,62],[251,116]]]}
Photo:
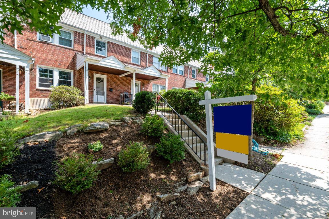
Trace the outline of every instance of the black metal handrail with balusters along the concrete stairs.
{"label": "black metal handrail with balusters along the concrete stairs", "polygon": [[[179,136],[181,136],[181,138],[183,139],[183,141],[187,145],[189,145],[189,147],[196,154],[196,156],[198,156],[198,158],[200,160],[204,161],[205,164],[206,164],[206,146],[207,146],[207,143],[205,141],[203,141],[203,139],[191,128],[191,126],[174,110],[174,108],[172,106],[170,106],[170,104],[159,93],[156,93],[156,95],[157,95],[157,99],[156,99],[157,104],[156,104],[156,107],[155,107],[155,114],[157,113],[157,111],[160,112],[172,127],[175,125],[175,127],[173,127],[173,128],[177,132],[177,134]],[[163,100],[163,101],[161,102],[161,100]],[[169,112],[170,111],[172,112],[171,113],[172,115],[176,115],[175,118],[173,118],[173,116],[172,116],[172,119],[170,119],[169,114],[168,114],[168,108],[169,108]],[[168,120],[167,117],[169,118],[169,120]],[[178,117],[178,119],[176,117]],[[170,122],[170,120],[172,120],[172,122]],[[175,120],[175,124],[173,124],[174,120]],[[178,130],[176,129],[176,120],[181,120],[182,121],[181,124],[179,124],[179,122],[178,122],[178,126],[177,126]],[[184,124],[182,124],[182,123],[184,123]],[[183,125],[184,125],[184,138],[183,138],[183,128],[182,128]],[[186,126],[188,127],[188,130],[186,130]],[[182,134],[179,133],[179,128],[181,128]],[[192,131],[194,133],[194,136],[195,136],[195,140],[196,140],[195,141],[195,150],[194,150],[194,147],[193,147],[193,138],[194,138],[194,136],[193,135],[191,136],[192,137],[192,143],[191,143],[192,146],[190,146],[190,141],[186,141],[186,132],[188,132],[188,136],[189,136],[190,131]],[[197,147],[198,146],[197,138],[200,139],[199,154],[198,154],[198,147]],[[190,138],[189,138],[189,140],[190,140]],[[203,142],[203,147],[204,147],[203,148],[204,149],[203,150],[203,152],[204,152],[203,158],[201,158],[201,141]]]}

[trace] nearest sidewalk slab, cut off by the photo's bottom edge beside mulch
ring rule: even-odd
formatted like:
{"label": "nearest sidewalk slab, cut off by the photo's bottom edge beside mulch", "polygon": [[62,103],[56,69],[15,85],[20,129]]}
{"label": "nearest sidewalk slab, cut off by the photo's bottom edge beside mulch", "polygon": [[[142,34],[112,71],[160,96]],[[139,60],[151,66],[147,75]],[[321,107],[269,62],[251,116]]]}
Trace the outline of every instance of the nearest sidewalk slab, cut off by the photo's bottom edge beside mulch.
{"label": "nearest sidewalk slab, cut off by the photo's bottom edge beside mulch", "polygon": [[296,212],[256,195],[248,195],[226,219],[297,219]]}

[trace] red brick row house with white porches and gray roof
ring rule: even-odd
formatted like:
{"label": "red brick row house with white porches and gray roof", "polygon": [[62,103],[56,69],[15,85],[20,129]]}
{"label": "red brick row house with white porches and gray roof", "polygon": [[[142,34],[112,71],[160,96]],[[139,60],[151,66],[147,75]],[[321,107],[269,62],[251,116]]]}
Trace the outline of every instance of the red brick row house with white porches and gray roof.
{"label": "red brick row house with white porches and gray roof", "polygon": [[193,88],[209,79],[198,62],[170,69],[159,60],[161,47],[148,50],[113,36],[108,23],[82,13],[65,11],[59,25],[60,34],[26,27],[22,35],[8,33],[0,44],[0,89],[25,102],[25,113],[49,107],[52,86],[75,86],[86,103],[122,104],[139,91]]}

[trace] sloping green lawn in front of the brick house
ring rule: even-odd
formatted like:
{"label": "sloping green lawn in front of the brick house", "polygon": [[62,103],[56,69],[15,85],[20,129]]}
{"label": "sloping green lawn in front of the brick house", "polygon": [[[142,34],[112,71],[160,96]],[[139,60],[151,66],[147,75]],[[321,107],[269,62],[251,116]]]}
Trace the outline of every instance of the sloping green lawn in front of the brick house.
{"label": "sloping green lawn in front of the brick house", "polygon": [[30,136],[45,131],[63,131],[74,124],[89,124],[96,121],[119,120],[134,115],[131,106],[87,105],[54,110],[36,116],[20,116],[12,120],[0,121],[9,124],[19,137]]}

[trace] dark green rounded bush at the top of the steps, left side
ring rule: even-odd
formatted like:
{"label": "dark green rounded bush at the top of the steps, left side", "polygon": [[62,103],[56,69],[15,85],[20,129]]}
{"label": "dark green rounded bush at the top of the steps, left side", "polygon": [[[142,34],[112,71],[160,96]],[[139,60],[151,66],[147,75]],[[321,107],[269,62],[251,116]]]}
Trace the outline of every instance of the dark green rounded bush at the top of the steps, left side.
{"label": "dark green rounded bush at the top of the steps, left side", "polygon": [[155,99],[156,95],[150,91],[138,92],[133,101],[134,111],[141,115],[146,115],[146,113],[150,112],[151,109],[154,108]]}

